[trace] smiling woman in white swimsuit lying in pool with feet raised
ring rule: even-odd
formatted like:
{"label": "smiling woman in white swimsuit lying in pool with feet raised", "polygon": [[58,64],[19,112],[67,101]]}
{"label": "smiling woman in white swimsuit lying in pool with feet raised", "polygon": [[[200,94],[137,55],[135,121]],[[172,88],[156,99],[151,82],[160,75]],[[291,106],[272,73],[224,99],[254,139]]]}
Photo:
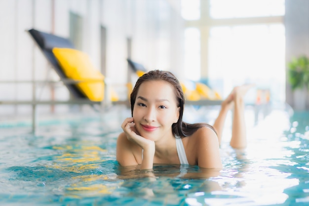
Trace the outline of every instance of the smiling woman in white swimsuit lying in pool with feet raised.
{"label": "smiling woman in white swimsuit lying in pool with feet raised", "polygon": [[154,70],[138,79],[131,93],[131,118],[121,124],[116,159],[122,166],[189,164],[222,168],[220,141],[225,118],[234,106],[233,148],[246,147],[243,95],[250,86],[235,87],[222,103],[213,127],[182,121],[184,93],[170,72]]}

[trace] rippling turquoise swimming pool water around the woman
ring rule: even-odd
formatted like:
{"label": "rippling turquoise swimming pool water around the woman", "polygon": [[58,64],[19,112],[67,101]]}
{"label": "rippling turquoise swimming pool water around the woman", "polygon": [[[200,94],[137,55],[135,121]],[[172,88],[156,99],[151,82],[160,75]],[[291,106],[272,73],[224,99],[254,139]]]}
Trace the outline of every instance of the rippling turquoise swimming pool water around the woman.
{"label": "rippling turquoise swimming pool water around the woman", "polygon": [[[189,113],[201,120],[207,110]],[[257,124],[247,122],[248,147],[232,150],[227,139],[219,173],[186,165],[155,165],[152,173],[121,168],[116,137],[129,115],[121,109],[41,120],[36,135],[27,123],[0,124],[0,205],[309,205],[309,112],[272,109]]]}

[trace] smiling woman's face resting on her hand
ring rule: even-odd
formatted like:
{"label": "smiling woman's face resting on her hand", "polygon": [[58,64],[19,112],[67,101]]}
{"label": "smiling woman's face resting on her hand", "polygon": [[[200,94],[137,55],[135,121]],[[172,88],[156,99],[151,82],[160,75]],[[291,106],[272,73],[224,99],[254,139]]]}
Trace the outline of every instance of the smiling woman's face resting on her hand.
{"label": "smiling woman's face resting on her hand", "polygon": [[138,133],[156,141],[172,135],[172,124],[177,123],[179,107],[172,84],[164,81],[146,81],[140,85],[133,109]]}

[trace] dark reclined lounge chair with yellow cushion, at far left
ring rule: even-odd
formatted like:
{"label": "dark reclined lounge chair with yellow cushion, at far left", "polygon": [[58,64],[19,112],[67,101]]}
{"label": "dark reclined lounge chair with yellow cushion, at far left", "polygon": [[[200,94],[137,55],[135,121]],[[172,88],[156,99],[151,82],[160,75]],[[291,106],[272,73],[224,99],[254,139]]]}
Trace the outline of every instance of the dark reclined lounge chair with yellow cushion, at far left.
{"label": "dark reclined lounge chair with yellow cushion, at far left", "polygon": [[[28,32],[76,100],[103,101],[104,76],[93,67],[87,54],[75,49],[66,38],[36,29]],[[118,101],[116,95],[110,101]]]}

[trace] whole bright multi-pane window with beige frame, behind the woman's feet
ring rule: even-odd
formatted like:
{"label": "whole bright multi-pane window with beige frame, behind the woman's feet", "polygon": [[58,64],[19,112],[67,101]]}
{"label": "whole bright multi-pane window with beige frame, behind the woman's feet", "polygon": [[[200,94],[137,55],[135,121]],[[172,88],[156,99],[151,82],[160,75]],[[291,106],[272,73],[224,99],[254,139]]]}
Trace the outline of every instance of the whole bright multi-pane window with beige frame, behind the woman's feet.
{"label": "whole bright multi-pane window with beige frame, behind the woman's feet", "polygon": [[186,77],[208,79],[223,97],[235,85],[256,83],[271,100],[285,101],[285,1],[188,1],[181,1]]}

